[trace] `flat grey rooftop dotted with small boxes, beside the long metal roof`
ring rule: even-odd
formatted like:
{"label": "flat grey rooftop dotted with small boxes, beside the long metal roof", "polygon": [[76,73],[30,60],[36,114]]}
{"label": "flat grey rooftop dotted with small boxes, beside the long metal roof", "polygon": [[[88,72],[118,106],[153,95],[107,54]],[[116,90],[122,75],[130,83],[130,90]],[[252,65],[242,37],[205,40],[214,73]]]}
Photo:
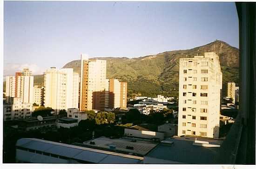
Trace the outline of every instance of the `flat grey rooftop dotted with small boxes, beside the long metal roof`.
{"label": "flat grey rooftop dotted with small boxes, beside the long metal roof", "polygon": [[[133,138],[117,138],[117,139],[110,139],[106,137],[95,138],[93,140],[89,140],[84,142],[84,145],[90,147],[98,147],[108,150],[117,150],[121,152],[126,152],[129,154],[135,154],[144,156],[148,153],[148,151],[152,150],[157,144],[152,143],[152,141],[137,139],[136,142],[132,142]],[[94,142],[95,144],[90,144],[90,142]],[[110,149],[109,145],[114,145],[115,149]],[[126,149],[126,146],[133,147],[133,150]]]}

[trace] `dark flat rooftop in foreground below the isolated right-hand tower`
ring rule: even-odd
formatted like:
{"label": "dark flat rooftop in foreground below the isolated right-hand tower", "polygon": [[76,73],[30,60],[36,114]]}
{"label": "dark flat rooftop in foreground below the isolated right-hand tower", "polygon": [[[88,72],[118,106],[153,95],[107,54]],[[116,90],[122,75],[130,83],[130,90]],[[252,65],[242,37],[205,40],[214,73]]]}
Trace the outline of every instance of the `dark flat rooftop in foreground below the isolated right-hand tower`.
{"label": "dark flat rooftop in foreground below the isolated right-hand tower", "polygon": [[[222,140],[211,138],[196,138],[198,141],[209,142],[210,144],[220,145]],[[150,150],[147,157],[169,161],[170,163],[189,163],[189,164],[214,164],[218,163],[220,147],[204,147],[193,145],[194,137],[168,138],[169,142],[160,143]],[[164,142],[164,141],[162,141]],[[149,162],[150,163],[150,162]],[[152,160],[152,163],[153,160]]]}

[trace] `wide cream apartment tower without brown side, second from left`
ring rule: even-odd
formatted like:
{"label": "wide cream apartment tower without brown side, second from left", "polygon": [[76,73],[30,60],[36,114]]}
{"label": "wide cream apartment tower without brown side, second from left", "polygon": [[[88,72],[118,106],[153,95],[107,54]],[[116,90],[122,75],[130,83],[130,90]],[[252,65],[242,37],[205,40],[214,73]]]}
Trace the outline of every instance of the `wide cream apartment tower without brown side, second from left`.
{"label": "wide cream apartment tower without brown side, second from left", "polygon": [[78,108],[79,75],[72,68],[52,67],[44,73],[44,106],[54,110]]}

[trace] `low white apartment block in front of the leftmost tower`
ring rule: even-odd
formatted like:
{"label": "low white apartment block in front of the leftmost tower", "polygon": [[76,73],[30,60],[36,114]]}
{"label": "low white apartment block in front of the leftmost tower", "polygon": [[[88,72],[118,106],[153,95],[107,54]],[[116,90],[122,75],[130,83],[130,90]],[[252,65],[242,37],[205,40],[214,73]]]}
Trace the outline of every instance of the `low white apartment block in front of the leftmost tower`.
{"label": "low white apartment block in front of the leftmost tower", "polygon": [[21,98],[12,97],[10,103],[4,104],[3,115],[4,121],[29,119],[32,116],[33,104],[23,103]]}

